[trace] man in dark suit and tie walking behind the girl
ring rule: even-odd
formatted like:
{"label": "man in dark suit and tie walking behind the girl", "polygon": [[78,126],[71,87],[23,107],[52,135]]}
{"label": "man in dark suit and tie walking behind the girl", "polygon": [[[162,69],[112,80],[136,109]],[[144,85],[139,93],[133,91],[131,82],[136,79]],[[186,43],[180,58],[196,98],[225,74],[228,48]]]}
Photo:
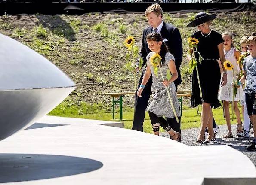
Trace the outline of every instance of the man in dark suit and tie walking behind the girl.
{"label": "man in dark suit and tie walking behind the girl", "polygon": [[[147,17],[148,23],[150,24],[149,27],[145,28],[143,31],[143,37],[142,37],[142,48],[140,55],[143,59],[144,66],[147,63],[147,55],[150,53],[150,49],[148,48],[148,43],[146,41],[146,36],[149,33],[160,33],[163,37],[163,42],[167,44],[167,47],[170,51],[170,53],[175,58],[175,65],[179,74],[178,79],[174,81],[174,84],[177,86],[181,84],[181,76],[180,76],[180,64],[182,61],[182,39],[179,33],[178,28],[174,27],[173,25],[170,25],[163,21],[163,10],[160,7],[159,4],[152,4],[149,6],[145,11],[145,16]],[[146,65],[145,65],[146,66]],[[143,75],[146,71],[146,67],[142,72],[142,75],[139,80],[138,88],[141,85]],[[143,122],[145,118],[145,111],[148,106],[148,100],[151,95],[151,85],[152,85],[152,76],[148,80],[147,84],[145,85],[144,90],[142,91],[142,97],[137,96],[136,91],[136,97],[135,97],[135,108],[134,108],[134,118],[133,118],[133,130],[138,130],[143,132]],[[180,132],[180,123],[176,125],[171,125],[174,131]]]}

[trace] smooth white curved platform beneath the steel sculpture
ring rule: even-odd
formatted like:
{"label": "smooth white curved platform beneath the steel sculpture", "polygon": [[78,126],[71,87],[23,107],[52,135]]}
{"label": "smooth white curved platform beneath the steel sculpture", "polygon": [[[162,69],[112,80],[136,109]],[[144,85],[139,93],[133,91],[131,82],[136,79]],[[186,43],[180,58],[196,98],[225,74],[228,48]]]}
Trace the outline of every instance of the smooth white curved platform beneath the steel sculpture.
{"label": "smooth white curved platform beneath the steel sculpture", "polygon": [[[204,178],[208,182],[216,178],[255,181],[254,164],[229,146],[187,146],[100,123],[110,124],[46,116],[1,141],[0,183],[207,185]],[[238,159],[242,169],[237,168]]]}

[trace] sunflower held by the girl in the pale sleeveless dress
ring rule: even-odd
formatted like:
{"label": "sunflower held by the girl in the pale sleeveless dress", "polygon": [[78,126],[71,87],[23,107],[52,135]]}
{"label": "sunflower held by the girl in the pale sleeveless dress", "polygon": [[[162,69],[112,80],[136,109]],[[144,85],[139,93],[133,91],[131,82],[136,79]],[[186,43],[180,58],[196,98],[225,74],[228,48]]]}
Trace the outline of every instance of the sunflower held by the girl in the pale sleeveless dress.
{"label": "sunflower held by the girl in the pale sleeveless dress", "polygon": [[[233,82],[233,95],[232,95],[232,121],[234,120],[234,97],[237,95],[237,85],[239,81],[239,74],[234,71],[234,66],[230,61],[224,62],[224,67],[226,70],[232,70],[232,82]],[[237,73],[236,81],[234,81],[234,74]]]}

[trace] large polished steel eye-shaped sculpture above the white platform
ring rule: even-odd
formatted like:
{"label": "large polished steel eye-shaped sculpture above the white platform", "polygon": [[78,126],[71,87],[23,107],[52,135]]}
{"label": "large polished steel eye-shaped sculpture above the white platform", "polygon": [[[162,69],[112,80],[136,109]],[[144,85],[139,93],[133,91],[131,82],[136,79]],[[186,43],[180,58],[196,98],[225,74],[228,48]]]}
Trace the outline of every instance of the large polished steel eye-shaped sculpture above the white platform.
{"label": "large polished steel eye-shaped sculpture above the white platform", "polygon": [[42,55],[0,34],[0,140],[48,114],[75,86]]}

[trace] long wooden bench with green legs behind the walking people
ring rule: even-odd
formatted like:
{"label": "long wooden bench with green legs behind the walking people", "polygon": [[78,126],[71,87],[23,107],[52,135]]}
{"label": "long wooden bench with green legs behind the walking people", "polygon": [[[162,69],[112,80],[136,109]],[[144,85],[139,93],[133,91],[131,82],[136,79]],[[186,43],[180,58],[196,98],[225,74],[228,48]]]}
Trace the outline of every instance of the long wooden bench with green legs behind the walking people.
{"label": "long wooden bench with green legs behind the walking people", "polygon": [[[102,93],[101,95],[112,97],[112,113],[114,119],[114,106],[116,103],[120,104],[120,120],[123,120],[123,97],[125,95],[135,95],[135,92],[125,92],[125,93]],[[178,100],[181,104],[180,115],[182,116],[182,97],[191,97],[191,91],[177,91]],[[115,100],[115,98],[118,98]]]}

